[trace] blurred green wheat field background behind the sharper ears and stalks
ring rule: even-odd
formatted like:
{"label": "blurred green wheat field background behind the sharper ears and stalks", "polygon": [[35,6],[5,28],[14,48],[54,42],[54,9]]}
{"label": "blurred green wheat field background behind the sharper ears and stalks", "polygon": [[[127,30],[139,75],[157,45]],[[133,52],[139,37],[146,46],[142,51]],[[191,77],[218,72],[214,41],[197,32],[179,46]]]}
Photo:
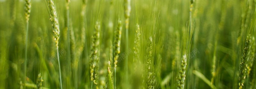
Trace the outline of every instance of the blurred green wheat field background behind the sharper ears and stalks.
{"label": "blurred green wheat field background behind the sharper ears and stalks", "polygon": [[[113,47],[117,21],[122,21],[121,52],[125,45],[134,51],[136,25],[140,26],[141,52],[146,51],[148,37],[155,39],[154,45],[160,55],[159,75],[156,76],[156,88],[174,89],[177,85],[176,74],[181,60],[181,39],[189,26],[190,0],[131,0],[129,23],[129,42],[125,42],[124,1],[123,0],[70,0],[70,65],[68,65],[68,31],[66,29],[65,0],[53,0],[57,7],[60,24],[59,49],[67,53],[60,56],[62,86],[64,89],[90,88],[90,52],[92,35],[96,21],[100,22],[100,66],[107,65],[109,49]],[[22,88],[25,60],[25,1],[0,0],[0,88]],[[82,6],[86,9],[82,11]],[[218,89],[237,89],[241,45],[244,29],[255,20],[255,0],[195,0],[192,4],[191,19],[194,32],[190,50],[198,50],[189,59],[186,76],[187,89],[210,89],[194,70],[212,80],[213,60],[216,73],[213,85]],[[31,0],[31,14],[28,26],[28,63],[26,83],[37,84],[38,74],[42,74],[42,86],[49,89],[60,88],[58,62],[50,61],[56,55],[56,46],[52,33],[52,24],[46,0]],[[83,15],[83,12],[85,15]],[[244,21],[244,23],[243,23]],[[82,28],[85,28],[85,35]],[[255,27],[254,27],[255,28]],[[255,30],[253,28],[253,30]],[[73,34],[72,34],[73,33]],[[255,33],[251,33],[255,37]],[[83,39],[85,37],[85,39]],[[81,47],[81,41],[85,44]],[[134,52],[133,52],[134,53]],[[80,54],[80,55],[77,55]],[[146,52],[140,54],[141,60]],[[142,63],[141,63],[142,62]],[[117,89],[140,89],[143,63],[134,62],[134,54],[128,56],[128,75],[125,75],[125,61],[117,63]],[[255,63],[255,61],[254,61]],[[136,68],[135,68],[136,65]],[[77,66],[77,68],[73,68]],[[253,65],[255,66],[255,65]],[[99,72],[106,72],[106,68]],[[76,71],[76,72],[73,72]],[[255,75],[252,69],[252,77]],[[128,82],[125,82],[125,76]],[[250,76],[251,77],[251,76]],[[245,78],[245,89],[251,89],[253,78]],[[255,85],[255,84],[254,84]],[[27,89],[36,87],[27,86]],[[95,88],[95,85],[93,85]],[[253,88],[252,88],[253,89]]]}

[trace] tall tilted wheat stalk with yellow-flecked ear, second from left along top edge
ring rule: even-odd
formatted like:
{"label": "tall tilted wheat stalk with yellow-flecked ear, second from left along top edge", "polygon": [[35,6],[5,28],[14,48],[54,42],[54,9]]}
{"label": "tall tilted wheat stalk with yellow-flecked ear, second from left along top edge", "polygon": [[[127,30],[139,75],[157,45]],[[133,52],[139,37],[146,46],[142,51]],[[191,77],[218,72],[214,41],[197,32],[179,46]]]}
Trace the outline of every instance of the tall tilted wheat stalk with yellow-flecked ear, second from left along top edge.
{"label": "tall tilted wheat stalk with yellow-flecked ear, second from left along top edge", "polygon": [[56,42],[56,47],[57,47],[57,58],[58,58],[58,64],[59,64],[59,73],[60,73],[60,89],[62,89],[62,82],[61,82],[61,70],[60,70],[60,58],[59,58],[59,39],[60,39],[60,26],[59,26],[59,20],[58,20],[58,15],[57,11],[55,8],[55,5],[52,0],[47,0],[48,6],[50,9],[50,17],[52,21],[52,29],[53,29],[53,35],[54,35],[54,40]]}

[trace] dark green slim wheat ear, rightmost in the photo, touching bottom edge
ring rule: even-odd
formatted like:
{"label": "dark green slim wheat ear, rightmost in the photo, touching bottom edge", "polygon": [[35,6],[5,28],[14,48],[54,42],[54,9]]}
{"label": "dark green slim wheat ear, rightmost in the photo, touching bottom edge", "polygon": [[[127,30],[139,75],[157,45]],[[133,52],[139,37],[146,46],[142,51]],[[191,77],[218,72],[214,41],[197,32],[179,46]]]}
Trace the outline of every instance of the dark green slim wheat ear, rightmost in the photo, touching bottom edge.
{"label": "dark green slim wheat ear, rightmost in the photo, touching bottom edge", "polygon": [[244,49],[242,52],[242,57],[240,60],[240,69],[239,69],[239,89],[243,89],[244,87],[244,79],[246,77],[246,68],[247,68],[247,59],[248,59],[248,53],[250,51],[250,43],[251,43],[251,35],[248,35],[245,40]]}

